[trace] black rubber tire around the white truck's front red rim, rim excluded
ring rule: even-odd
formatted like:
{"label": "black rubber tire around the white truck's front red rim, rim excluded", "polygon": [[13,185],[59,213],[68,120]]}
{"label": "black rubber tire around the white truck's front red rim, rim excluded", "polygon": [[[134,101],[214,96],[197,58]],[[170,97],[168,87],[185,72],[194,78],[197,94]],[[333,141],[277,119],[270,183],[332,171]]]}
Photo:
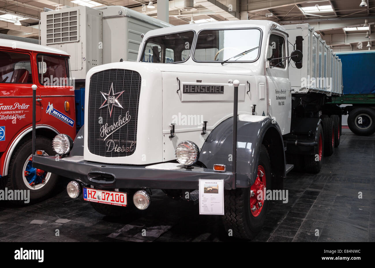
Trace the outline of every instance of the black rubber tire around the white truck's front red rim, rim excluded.
{"label": "black rubber tire around the white truck's front red rim, rim excluded", "polygon": [[[272,185],[270,185],[272,184],[270,158],[264,145],[262,145],[260,150],[259,165],[264,167],[266,189],[272,189]],[[262,229],[266,220],[270,201],[265,200],[260,214],[254,217],[250,208],[250,190],[251,188],[249,187],[224,191],[225,215],[223,216],[223,223],[226,231],[228,232],[231,229],[233,236],[237,238],[254,238]]]}

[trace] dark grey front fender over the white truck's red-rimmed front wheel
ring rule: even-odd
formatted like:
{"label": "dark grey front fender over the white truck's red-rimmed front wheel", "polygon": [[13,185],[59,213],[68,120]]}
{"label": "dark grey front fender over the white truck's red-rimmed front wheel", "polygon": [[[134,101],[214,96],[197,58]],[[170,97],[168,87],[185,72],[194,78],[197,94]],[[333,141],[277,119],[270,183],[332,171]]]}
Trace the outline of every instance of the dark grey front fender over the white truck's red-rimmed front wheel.
{"label": "dark grey front fender over the white truck's red-rimmed front wheel", "polygon": [[[284,144],[279,125],[269,117],[245,117],[250,120],[237,121],[237,179],[231,189],[250,187],[254,183],[262,144],[270,156],[272,177],[285,178]],[[199,161],[210,169],[214,164],[223,164],[227,171],[232,171],[232,153],[233,117],[211,131],[202,146]]]}

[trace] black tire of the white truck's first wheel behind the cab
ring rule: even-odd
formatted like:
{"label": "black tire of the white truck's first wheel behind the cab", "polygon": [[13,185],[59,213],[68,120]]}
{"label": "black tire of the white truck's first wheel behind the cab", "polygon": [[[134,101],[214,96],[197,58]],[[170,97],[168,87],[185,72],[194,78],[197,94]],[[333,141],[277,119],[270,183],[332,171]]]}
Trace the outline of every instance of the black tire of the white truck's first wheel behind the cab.
{"label": "black tire of the white truck's first wheel behind the cab", "polygon": [[[322,139],[320,141],[320,138]],[[322,160],[323,160],[323,154],[324,154],[324,132],[323,127],[321,124],[318,126],[318,132],[317,132],[317,140],[318,145],[314,148],[314,154],[312,155],[304,155],[304,162],[305,162],[305,171],[308,173],[317,174],[320,172],[322,168]],[[319,153],[321,146],[321,154]]]}

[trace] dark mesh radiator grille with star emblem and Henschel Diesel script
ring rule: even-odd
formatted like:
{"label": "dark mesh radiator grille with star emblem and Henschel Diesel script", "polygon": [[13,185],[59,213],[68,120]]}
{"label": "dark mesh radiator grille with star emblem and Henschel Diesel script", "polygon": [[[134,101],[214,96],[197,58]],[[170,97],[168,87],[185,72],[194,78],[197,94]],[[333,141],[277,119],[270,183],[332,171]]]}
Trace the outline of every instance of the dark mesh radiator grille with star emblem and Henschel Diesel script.
{"label": "dark mesh radiator grille with star emblem and Henschel Diesel script", "polygon": [[92,154],[123,157],[134,153],[141,75],[109,69],[90,78],[88,145]]}

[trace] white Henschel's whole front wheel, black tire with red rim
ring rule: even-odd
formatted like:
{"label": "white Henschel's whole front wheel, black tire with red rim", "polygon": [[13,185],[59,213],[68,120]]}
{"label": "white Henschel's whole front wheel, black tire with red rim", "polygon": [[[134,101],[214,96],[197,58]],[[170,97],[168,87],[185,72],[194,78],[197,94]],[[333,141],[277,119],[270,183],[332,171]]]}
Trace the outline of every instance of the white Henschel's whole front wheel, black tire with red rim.
{"label": "white Henschel's whole front wheel, black tire with red rim", "polygon": [[[266,147],[262,145],[258,163],[258,176],[249,188],[224,191],[224,226],[232,230],[234,237],[252,239],[262,229],[269,206],[269,200],[257,199],[257,191],[272,189],[271,164]],[[254,191],[254,196],[251,196]]]}

